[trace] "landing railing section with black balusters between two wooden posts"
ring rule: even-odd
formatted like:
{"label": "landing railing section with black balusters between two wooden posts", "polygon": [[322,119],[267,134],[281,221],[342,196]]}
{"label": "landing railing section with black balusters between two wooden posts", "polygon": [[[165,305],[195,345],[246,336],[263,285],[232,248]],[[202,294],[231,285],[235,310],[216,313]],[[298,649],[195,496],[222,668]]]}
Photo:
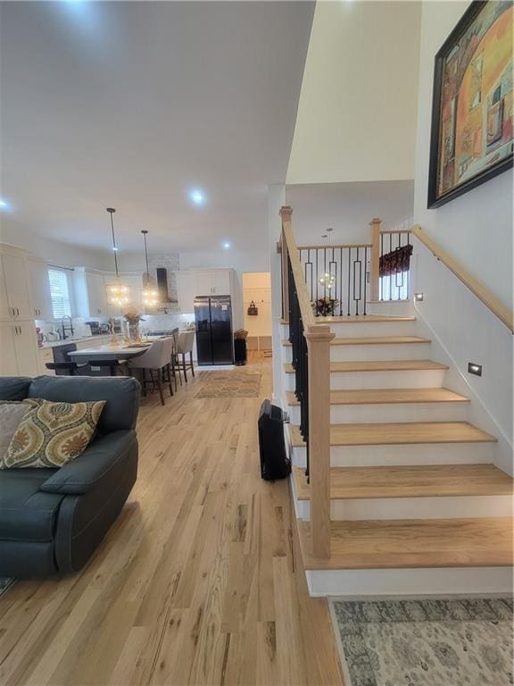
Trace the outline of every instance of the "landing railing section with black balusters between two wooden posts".
{"label": "landing railing section with black balusters between two wooden posts", "polygon": [[[334,302],[333,316],[366,314],[370,245],[300,246],[298,255],[311,301]],[[314,306],[314,305],[313,305]],[[314,306],[316,316],[327,316]]]}

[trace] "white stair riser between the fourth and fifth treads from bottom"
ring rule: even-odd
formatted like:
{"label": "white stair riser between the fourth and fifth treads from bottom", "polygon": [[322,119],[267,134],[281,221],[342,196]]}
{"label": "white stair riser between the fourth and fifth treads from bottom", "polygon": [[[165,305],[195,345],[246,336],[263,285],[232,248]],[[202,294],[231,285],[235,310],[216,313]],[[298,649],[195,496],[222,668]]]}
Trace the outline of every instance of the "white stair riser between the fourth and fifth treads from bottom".
{"label": "white stair riser between the fourth and fifth treads from bottom", "polygon": [[331,372],[330,389],[439,389],[443,386],[444,372],[444,369]]}

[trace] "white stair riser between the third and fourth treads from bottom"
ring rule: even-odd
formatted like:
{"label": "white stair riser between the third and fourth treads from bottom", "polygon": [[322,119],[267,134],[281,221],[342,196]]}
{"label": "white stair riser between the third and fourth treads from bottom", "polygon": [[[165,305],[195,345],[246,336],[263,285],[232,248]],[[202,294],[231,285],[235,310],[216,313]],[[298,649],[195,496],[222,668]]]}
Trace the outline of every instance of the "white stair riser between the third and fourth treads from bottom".
{"label": "white stair riser between the third and fourth treads from bottom", "polygon": [[[291,423],[300,423],[300,407],[287,409]],[[388,403],[377,405],[332,405],[330,422],[464,422],[468,403]]]}

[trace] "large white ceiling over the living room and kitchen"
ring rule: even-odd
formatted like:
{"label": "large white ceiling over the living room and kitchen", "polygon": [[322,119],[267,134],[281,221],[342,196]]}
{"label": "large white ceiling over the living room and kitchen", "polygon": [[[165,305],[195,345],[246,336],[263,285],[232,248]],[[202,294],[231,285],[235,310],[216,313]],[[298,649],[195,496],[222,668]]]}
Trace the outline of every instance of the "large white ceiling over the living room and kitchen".
{"label": "large white ceiling over the living room and kitchen", "polygon": [[[284,182],[313,4],[1,7],[3,221],[87,247],[261,247]],[[206,204],[187,193],[203,188]]]}

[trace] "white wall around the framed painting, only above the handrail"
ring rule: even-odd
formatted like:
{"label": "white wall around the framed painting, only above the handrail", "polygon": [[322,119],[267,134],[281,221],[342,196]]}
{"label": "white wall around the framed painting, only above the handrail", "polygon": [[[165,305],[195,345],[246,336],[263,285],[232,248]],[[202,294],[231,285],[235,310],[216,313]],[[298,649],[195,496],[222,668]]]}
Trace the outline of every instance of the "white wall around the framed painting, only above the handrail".
{"label": "white wall around the framed painting, only above the handrail", "polygon": [[414,219],[505,305],[512,306],[512,171],[427,210],[434,57],[467,7],[468,2],[423,3]]}

